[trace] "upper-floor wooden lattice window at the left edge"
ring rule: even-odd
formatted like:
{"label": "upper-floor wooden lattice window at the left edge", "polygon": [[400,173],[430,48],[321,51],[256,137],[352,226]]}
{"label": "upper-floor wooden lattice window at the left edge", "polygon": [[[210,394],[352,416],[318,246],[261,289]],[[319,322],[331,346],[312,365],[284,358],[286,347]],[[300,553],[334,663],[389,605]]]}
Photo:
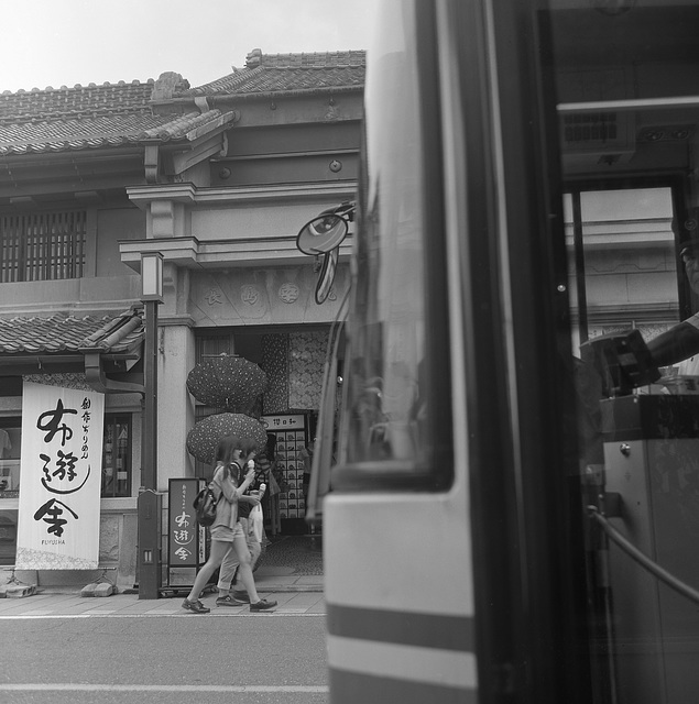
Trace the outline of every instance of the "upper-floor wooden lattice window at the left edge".
{"label": "upper-floor wooden lattice window at the left edge", "polygon": [[79,278],[86,212],[0,215],[0,283]]}

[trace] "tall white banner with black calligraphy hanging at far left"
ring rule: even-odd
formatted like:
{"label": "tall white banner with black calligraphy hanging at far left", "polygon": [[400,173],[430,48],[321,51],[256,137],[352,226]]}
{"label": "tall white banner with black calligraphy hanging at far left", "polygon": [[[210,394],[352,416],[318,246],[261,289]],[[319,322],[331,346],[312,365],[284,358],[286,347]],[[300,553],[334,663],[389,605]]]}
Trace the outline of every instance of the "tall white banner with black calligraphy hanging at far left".
{"label": "tall white banner with black calligraphy hanging at far left", "polygon": [[24,383],[15,565],[94,570],[105,396]]}

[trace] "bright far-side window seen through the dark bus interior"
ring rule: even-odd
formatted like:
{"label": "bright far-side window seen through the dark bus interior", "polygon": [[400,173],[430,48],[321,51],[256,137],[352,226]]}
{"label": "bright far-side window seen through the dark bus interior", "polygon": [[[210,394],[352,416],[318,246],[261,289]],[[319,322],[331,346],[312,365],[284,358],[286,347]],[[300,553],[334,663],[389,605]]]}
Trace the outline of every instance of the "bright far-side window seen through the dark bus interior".
{"label": "bright far-side window seen through the dark bus interior", "polygon": [[[570,290],[579,311],[574,346],[621,328],[640,328],[651,338],[658,330],[658,308],[666,318],[679,315],[671,187],[590,183],[568,190]],[[620,286],[623,299],[614,301]]]}

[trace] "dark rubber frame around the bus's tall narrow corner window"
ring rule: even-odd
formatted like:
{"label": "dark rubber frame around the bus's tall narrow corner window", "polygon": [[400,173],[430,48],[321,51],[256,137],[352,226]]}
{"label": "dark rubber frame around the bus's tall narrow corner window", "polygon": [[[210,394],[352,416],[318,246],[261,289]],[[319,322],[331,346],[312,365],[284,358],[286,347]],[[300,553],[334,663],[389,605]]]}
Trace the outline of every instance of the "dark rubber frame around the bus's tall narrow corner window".
{"label": "dark rubber frame around the bus's tall narrow corner window", "polygon": [[[444,492],[454,482],[452,453],[452,421],[450,393],[450,336],[448,321],[447,253],[445,242],[445,209],[441,158],[441,114],[438,79],[434,67],[437,65],[438,46],[435,41],[435,8],[428,3],[413,2],[415,13],[415,36],[411,37],[416,53],[416,68],[418,81],[419,113],[417,131],[421,138],[422,170],[429,174],[422,185],[422,233],[423,242],[429,242],[424,248],[425,254],[425,318],[429,326],[427,330],[444,331],[443,336],[426,333],[426,383],[427,406],[429,416],[427,433],[430,438],[428,459],[424,465],[417,465],[407,460],[381,460],[348,463],[347,437],[340,432],[339,463],[332,469],[331,484],[334,492]],[[371,107],[365,107],[365,114]],[[369,186],[369,175],[365,172],[367,147],[362,134],[360,162],[360,197],[358,200],[358,226],[356,238],[362,237],[362,221],[365,217],[362,188]],[[429,233],[429,234],[427,234]],[[352,298],[356,290],[352,292]],[[348,350],[351,350],[352,318],[351,310],[347,326]],[[346,354],[348,359],[348,354]],[[345,367],[349,374],[349,365]],[[348,394],[342,398],[342,427],[348,417]]]}

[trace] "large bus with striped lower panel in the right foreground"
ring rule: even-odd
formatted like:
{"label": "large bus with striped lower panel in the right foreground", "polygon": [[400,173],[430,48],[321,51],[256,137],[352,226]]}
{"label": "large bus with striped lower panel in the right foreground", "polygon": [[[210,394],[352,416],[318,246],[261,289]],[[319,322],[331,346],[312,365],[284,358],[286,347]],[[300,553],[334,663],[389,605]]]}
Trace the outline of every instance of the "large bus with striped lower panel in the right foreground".
{"label": "large bus with striped lower panel in the right foreground", "polygon": [[330,701],[693,702],[699,2],[372,22],[357,202],[306,231],[353,230],[308,512]]}

